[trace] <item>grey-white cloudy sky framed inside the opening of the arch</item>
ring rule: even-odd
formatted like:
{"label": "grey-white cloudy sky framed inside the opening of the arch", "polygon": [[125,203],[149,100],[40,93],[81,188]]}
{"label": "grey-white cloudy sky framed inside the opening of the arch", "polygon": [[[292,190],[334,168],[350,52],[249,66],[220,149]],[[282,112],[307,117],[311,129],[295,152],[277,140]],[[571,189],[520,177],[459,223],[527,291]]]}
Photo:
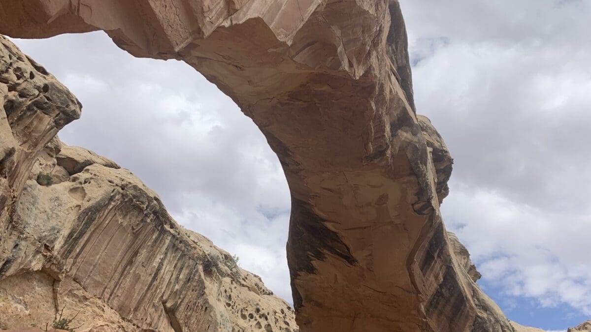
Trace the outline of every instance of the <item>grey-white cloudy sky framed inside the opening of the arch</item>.
{"label": "grey-white cloudy sky framed inside the opening of the arch", "polygon": [[291,301],[287,182],[251,119],[179,61],[138,59],[103,32],[17,40],[80,99],[60,132],[129,168],[184,226],[241,258]]}

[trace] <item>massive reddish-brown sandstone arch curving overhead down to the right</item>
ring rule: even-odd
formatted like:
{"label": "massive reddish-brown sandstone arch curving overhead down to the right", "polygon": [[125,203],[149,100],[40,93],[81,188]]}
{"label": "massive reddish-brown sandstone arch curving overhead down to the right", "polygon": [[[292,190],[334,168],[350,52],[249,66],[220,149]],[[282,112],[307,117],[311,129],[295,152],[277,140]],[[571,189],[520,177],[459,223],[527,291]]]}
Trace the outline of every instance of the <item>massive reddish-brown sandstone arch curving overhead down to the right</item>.
{"label": "massive reddish-brown sandstone arch curving overhead down to the right", "polygon": [[[94,30],[186,61],[267,137],[292,196],[301,330],[511,331],[450,249],[439,204],[452,159],[415,114],[397,1],[0,0],[11,37]],[[16,196],[23,179],[9,179]]]}

